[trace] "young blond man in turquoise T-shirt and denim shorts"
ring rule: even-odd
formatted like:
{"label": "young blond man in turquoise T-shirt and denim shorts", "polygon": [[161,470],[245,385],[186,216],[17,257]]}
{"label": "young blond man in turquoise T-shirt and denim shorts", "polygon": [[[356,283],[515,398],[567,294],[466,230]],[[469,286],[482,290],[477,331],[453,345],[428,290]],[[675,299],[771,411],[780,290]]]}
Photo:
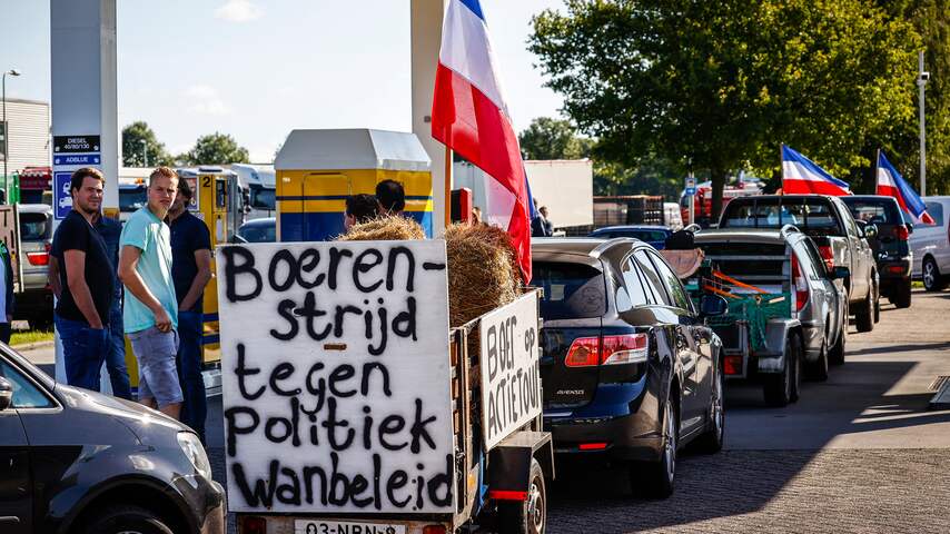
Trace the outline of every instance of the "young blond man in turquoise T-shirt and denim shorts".
{"label": "young blond man in turquoise T-shirt and denim shorts", "polygon": [[165,215],[178,191],[178,174],[159,167],[149,176],[148,204],[132,214],[119,239],[119,278],[126,286],[122,320],[139,364],[139,402],[179,418],[178,299],[171,279],[171,237]]}

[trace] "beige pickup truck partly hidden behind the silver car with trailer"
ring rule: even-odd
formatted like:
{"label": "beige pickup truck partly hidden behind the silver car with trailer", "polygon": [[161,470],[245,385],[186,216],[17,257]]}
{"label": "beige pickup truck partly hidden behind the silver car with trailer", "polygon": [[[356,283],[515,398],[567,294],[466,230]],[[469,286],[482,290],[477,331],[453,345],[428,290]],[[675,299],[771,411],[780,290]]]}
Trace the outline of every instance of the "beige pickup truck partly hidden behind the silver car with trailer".
{"label": "beige pickup truck partly hidden behind the silver car with trailer", "polygon": [[858,332],[871,332],[880,318],[878,267],[865,237],[874,225],[859,226],[839,197],[825,195],[761,195],[733,199],[723,209],[720,228],[772,228],[794,225],[818,245],[821,258],[832,267],[848,267],[842,281],[849,310]]}

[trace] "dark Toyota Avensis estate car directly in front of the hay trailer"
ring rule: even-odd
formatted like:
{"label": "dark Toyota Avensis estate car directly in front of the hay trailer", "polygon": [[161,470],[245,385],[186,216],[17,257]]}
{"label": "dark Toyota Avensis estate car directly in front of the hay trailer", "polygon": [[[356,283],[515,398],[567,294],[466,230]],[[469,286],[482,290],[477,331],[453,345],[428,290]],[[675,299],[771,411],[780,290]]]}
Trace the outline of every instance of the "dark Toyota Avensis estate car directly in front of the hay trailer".
{"label": "dark Toyota Avensis estate car directly in front of the hay trailer", "polygon": [[724,433],[721,343],[670,266],[627,238],[535,239],[544,426],[563,456],[627,463],[636,491],[667,496],[676,452]]}

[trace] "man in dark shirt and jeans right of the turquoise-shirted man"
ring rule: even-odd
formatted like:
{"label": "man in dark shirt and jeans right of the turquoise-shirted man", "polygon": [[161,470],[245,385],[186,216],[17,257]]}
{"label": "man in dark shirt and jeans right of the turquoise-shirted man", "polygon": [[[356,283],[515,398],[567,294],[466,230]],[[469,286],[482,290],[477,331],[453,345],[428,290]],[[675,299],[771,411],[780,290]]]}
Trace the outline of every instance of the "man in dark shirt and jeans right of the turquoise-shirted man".
{"label": "man in dark shirt and jeans right of the turquoise-shirted man", "polygon": [[165,220],[171,229],[171,281],[178,298],[178,382],[185,400],[179,421],[205,443],[208,404],[201,377],[202,296],[211,279],[211,235],[205,222],[188,211],[194,192],[188,180],[178,181],[178,195]]}

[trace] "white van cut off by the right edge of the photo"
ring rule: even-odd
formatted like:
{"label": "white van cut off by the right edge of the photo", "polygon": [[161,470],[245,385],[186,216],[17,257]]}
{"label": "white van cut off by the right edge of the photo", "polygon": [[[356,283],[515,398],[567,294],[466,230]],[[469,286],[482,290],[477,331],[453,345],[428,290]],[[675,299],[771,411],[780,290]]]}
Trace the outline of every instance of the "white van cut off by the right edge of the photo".
{"label": "white van cut off by the right edge of the photo", "polygon": [[928,291],[939,291],[950,280],[950,229],[947,214],[950,214],[950,197],[923,197],[927,212],[933,218],[933,225],[914,225],[910,235],[910,249],[913,254],[911,276],[923,280]]}

